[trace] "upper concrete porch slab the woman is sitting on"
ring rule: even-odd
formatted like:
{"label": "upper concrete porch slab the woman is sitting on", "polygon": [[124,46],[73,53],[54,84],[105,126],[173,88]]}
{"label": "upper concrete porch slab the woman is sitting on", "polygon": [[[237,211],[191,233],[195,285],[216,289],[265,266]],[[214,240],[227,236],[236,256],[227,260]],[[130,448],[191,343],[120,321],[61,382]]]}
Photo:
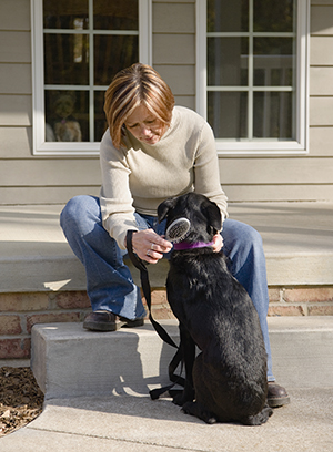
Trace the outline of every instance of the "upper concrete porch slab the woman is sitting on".
{"label": "upper concrete porch slab the woman is sitting on", "polygon": [[[84,268],[59,226],[62,208],[0,206],[0,294],[85,290]],[[261,233],[269,286],[333,285],[332,212],[327,202],[229,206],[231,218]],[[152,287],[164,287],[167,269],[167,261],[150,266]]]}

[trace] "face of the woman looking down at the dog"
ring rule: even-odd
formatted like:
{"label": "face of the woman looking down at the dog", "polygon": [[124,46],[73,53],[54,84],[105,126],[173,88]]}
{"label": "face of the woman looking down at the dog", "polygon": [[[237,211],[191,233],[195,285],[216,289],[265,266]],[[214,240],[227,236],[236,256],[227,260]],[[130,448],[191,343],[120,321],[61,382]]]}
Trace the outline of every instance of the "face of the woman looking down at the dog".
{"label": "face of the woman looking down at the dog", "polygon": [[165,125],[144,105],[138,106],[124,124],[137,140],[147,144],[158,143],[165,132]]}

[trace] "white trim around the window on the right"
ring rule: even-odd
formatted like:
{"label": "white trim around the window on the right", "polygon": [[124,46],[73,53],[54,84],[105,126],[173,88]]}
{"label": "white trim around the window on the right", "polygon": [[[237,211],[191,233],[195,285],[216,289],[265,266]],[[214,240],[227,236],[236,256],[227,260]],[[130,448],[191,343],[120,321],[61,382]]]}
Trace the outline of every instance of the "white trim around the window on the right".
{"label": "white trim around the window on the right", "polygon": [[[296,140],[216,140],[220,155],[304,155],[309,153],[309,42],[310,0],[297,2]],[[206,119],[206,0],[196,0],[196,112]]]}

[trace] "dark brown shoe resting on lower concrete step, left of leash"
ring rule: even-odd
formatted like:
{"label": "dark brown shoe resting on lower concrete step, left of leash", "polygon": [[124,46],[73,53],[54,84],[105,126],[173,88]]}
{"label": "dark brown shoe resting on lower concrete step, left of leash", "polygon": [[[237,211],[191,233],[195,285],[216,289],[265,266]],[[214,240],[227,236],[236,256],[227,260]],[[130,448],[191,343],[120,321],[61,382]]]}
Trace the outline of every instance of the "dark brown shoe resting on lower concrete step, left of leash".
{"label": "dark brown shoe resting on lower concrete step, left of leash", "polygon": [[134,328],[143,325],[143,319],[129,320],[124,317],[118,317],[113,312],[99,311],[90,312],[85,317],[83,328],[91,331],[117,331],[121,327]]}

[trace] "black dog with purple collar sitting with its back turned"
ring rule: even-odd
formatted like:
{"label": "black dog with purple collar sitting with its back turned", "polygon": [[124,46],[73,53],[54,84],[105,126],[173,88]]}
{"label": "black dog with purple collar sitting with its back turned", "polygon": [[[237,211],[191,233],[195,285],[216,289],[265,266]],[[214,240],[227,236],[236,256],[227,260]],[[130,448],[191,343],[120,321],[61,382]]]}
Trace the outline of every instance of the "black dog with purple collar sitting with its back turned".
{"label": "black dog with purple collar sitting with its back turned", "polygon": [[[167,218],[167,227],[180,217],[191,224],[185,242],[174,246],[167,279],[185,364],[185,387],[174,403],[208,423],[266,422],[272,410],[266,405],[266,352],[259,317],[229,273],[224,255],[209,245],[222,226],[219,207],[190,193],[164,201],[158,216],[160,222]],[[196,358],[195,345],[201,350]]]}

